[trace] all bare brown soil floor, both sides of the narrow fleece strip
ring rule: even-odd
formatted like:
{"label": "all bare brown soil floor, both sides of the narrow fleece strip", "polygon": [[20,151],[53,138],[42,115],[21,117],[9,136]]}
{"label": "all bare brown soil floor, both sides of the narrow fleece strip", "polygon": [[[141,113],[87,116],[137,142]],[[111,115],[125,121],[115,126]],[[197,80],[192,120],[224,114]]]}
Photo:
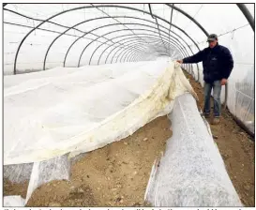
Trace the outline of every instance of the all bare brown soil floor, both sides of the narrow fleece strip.
{"label": "all bare brown soil floor, both sides of the narrow fleece strip", "polygon": [[[187,75],[203,108],[203,89]],[[209,121],[210,122],[210,121]],[[90,152],[71,169],[70,181],[53,181],[35,190],[27,206],[143,206],[151,167],[172,136],[167,117],[159,117],[127,139]],[[211,126],[234,188],[245,206],[254,206],[255,150],[248,134],[222,111]],[[27,183],[5,181],[4,195],[25,197]]]}

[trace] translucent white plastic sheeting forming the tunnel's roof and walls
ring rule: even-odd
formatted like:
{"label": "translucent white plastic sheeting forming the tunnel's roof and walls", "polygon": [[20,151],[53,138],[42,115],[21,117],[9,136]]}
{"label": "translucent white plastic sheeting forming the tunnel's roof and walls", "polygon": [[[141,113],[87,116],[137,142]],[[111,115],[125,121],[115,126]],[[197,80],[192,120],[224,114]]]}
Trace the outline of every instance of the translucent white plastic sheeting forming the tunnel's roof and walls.
{"label": "translucent white plastic sheeting forming the tunnel's roof and walls", "polygon": [[[245,7],[253,19],[254,4]],[[13,74],[15,60],[17,73],[23,73],[161,56],[181,59],[206,47],[205,32],[217,34],[233,54],[227,106],[254,134],[254,30],[237,4],[151,4],[151,10],[148,4],[8,4],[4,74]],[[183,67],[203,86],[202,64]]]}

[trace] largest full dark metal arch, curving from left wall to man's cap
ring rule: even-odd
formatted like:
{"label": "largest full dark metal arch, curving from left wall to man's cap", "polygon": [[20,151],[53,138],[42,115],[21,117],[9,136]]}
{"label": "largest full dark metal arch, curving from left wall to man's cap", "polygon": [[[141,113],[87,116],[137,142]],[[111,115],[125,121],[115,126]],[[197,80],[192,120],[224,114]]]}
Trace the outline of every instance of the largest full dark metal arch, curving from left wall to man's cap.
{"label": "largest full dark metal arch, curving from left wall to man's cap", "polygon": [[[17,66],[18,54],[19,54],[19,52],[20,52],[20,49],[21,49],[21,47],[22,47],[22,45],[23,45],[23,42],[24,42],[24,40],[26,39],[26,37],[28,37],[33,31],[35,31],[36,29],[38,29],[38,27],[39,27],[40,25],[42,25],[43,23],[47,23],[48,21],[52,20],[53,18],[55,18],[55,17],[57,17],[57,16],[59,16],[59,15],[62,15],[62,14],[64,14],[64,13],[67,13],[67,12],[70,12],[70,11],[74,11],[74,10],[78,10],[78,9],[83,9],[83,8],[95,8],[95,6],[93,6],[93,7],[92,7],[92,6],[84,6],[84,7],[80,7],[80,8],[70,8],[70,9],[68,9],[68,10],[59,12],[59,13],[57,13],[57,14],[54,14],[54,15],[51,16],[50,18],[44,20],[42,23],[39,23],[35,28],[33,28],[31,31],[29,31],[29,32],[26,34],[26,36],[23,37],[23,40],[22,40],[21,43],[19,44],[19,47],[18,47],[17,52],[16,52],[16,54],[15,54],[15,60],[14,60],[14,74],[16,74],[16,66]],[[138,8],[129,8],[129,7],[124,7],[124,6],[100,5],[100,6],[97,6],[97,8],[127,8],[127,9],[130,9],[130,10],[136,10],[136,11],[143,12],[143,14],[148,14],[148,15],[150,15],[149,12],[143,11],[142,9],[138,9]],[[166,21],[165,19],[162,19],[162,18],[158,17],[158,16],[155,15],[155,14],[152,14],[152,15],[153,15],[154,17],[158,18],[159,20],[161,20],[161,21],[163,21],[163,22],[165,22],[165,23],[169,23],[169,24],[170,24],[170,22]],[[182,31],[182,32],[195,44],[195,46],[196,46],[196,47],[198,48],[198,50],[200,51],[200,48],[199,48],[199,46],[197,45],[197,43],[196,43],[191,37],[189,37],[188,34],[187,34],[184,30],[182,30],[181,28],[177,27],[176,25],[173,25],[173,27],[175,27],[175,28],[179,29],[180,31]]]}

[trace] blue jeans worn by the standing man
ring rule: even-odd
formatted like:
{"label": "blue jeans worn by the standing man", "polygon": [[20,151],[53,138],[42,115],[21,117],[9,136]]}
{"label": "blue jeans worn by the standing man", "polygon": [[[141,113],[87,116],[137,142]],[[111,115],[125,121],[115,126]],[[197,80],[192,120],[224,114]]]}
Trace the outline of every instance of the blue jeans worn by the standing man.
{"label": "blue jeans worn by the standing man", "polygon": [[213,98],[214,98],[214,116],[219,117],[220,116],[220,93],[221,93],[221,81],[215,81],[212,83],[204,82],[204,108],[203,113],[204,114],[210,114],[211,113],[211,92],[213,88]]}

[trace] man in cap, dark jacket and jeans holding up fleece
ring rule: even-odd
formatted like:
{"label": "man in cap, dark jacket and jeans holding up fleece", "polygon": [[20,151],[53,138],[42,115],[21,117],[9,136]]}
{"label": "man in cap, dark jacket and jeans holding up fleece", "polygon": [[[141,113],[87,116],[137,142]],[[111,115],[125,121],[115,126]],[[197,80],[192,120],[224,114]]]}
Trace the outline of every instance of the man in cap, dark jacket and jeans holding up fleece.
{"label": "man in cap, dark jacket and jeans holding up fleece", "polygon": [[204,107],[203,114],[209,118],[211,112],[210,97],[213,88],[214,119],[217,125],[220,117],[221,85],[225,85],[233,69],[233,57],[229,49],[218,44],[218,36],[208,37],[209,47],[193,56],[178,60],[180,64],[199,63],[203,61]]}

